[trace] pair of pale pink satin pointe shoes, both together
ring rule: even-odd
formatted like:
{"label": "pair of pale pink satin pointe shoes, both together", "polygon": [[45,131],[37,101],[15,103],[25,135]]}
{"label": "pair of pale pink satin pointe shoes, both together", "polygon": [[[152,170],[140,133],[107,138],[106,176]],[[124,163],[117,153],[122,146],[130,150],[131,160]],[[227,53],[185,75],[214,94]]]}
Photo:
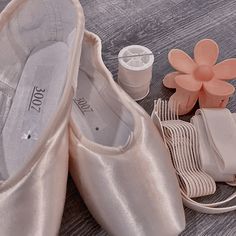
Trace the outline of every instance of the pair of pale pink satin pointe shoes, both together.
{"label": "pair of pale pink satin pointe shoes, both together", "polygon": [[57,235],[68,169],[110,235],[184,229],[169,152],[106,69],[77,0],[11,1],[0,71],[0,235]]}

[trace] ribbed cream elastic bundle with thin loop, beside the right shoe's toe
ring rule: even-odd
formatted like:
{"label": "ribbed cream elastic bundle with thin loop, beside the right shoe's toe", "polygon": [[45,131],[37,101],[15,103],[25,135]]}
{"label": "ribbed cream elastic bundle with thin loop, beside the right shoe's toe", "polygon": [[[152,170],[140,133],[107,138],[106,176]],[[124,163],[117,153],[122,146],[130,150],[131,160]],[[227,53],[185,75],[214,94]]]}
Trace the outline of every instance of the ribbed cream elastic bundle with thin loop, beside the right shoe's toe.
{"label": "ribbed cream elastic bundle with thin loop, beside the right shoe's toe", "polygon": [[[194,124],[178,120],[176,107],[168,107],[167,101],[155,101],[152,119],[168,146],[172,162],[179,177],[184,204],[196,211],[219,214],[236,210],[236,206],[221,207],[236,198],[233,193],[227,199],[216,203],[199,203],[194,197],[213,194],[216,190],[214,179],[201,166],[198,134]],[[173,114],[171,114],[173,113]],[[230,183],[235,186],[235,183]]]}

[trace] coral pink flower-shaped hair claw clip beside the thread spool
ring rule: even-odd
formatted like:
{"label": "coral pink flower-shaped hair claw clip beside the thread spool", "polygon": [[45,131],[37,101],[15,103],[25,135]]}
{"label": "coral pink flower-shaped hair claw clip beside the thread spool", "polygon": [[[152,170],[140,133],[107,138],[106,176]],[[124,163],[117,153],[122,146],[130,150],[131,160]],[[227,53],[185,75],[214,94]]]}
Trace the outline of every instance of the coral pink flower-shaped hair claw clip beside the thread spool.
{"label": "coral pink flower-shaped hair claw clip beside the thread spool", "polygon": [[163,84],[176,89],[169,103],[178,107],[178,114],[191,111],[199,100],[201,108],[224,108],[235,88],[226,80],[236,77],[236,58],[216,64],[217,43],[211,39],[199,41],[194,48],[194,60],[184,51],[172,49],[168,60],[176,72],[165,76]]}

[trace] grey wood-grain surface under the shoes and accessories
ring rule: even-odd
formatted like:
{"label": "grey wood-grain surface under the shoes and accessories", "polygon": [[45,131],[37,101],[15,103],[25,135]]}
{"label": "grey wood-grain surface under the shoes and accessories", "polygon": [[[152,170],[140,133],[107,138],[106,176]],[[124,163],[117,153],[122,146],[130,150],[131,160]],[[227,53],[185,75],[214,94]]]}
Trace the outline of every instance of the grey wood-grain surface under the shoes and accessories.
{"label": "grey wood-grain surface under the shoes and accessories", "polygon": [[[235,0],[82,0],[81,4],[87,29],[102,39],[103,58],[114,78],[117,77],[114,57],[120,49],[140,44],[153,51],[151,91],[140,102],[148,113],[152,111],[154,99],[168,98],[173,92],[162,86],[163,76],[171,71],[167,61],[170,49],[180,48],[192,55],[198,40],[212,38],[221,48],[219,61],[236,57]],[[236,112],[236,96],[231,99],[229,108]],[[213,199],[221,199],[232,191],[221,185]],[[182,235],[236,235],[235,212],[204,215],[186,209],[186,218],[187,227]],[[89,214],[70,178],[60,235],[107,235]]]}

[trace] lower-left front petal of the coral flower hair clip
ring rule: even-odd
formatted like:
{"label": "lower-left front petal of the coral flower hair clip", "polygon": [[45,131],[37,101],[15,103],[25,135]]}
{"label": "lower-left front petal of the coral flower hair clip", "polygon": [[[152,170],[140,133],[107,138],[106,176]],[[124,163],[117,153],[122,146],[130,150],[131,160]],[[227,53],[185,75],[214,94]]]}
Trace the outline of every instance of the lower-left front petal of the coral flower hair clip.
{"label": "lower-left front petal of the coral flower hair clip", "polygon": [[202,82],[195,80],[192,75],[178,75],[175,77],[177,87],[181,87],[189,92],[197,92],[202,87]]}

